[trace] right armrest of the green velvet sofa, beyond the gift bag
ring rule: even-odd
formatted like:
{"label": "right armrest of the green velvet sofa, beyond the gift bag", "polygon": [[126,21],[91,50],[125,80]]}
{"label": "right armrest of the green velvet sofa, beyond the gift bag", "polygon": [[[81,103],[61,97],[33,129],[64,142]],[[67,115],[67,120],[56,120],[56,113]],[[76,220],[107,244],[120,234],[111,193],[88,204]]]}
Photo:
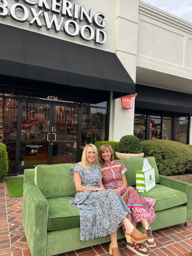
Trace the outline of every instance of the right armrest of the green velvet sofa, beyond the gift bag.
{"label": "right armrest of the green velvet sofa, beyond the gift bag", "polygon": [[192,221],[192,184],[159,174],[160,184],[187,194],[187,221]]}

